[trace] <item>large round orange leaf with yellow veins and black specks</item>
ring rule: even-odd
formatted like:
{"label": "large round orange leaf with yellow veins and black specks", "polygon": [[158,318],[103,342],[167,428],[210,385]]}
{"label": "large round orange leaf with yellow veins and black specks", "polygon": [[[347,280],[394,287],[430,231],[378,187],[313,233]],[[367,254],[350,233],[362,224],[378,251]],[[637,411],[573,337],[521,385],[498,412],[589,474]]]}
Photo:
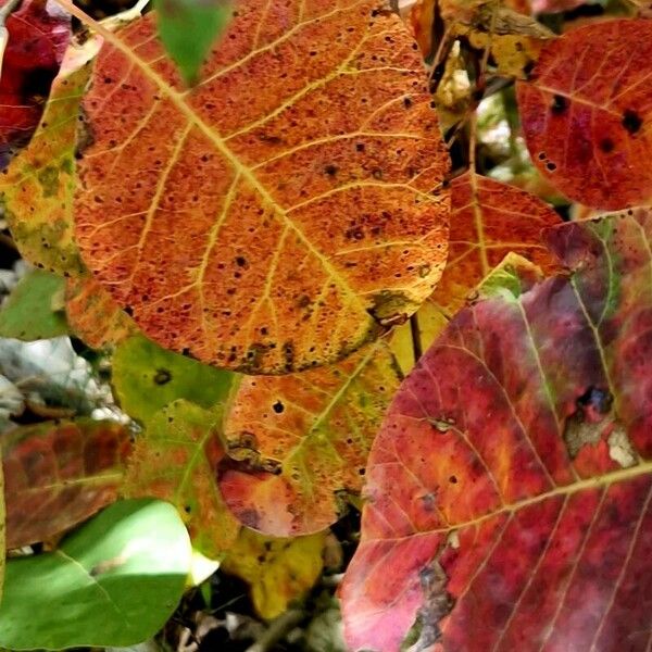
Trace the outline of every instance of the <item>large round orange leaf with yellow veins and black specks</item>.
{"label": "large round orange leaf with yellow veins and black specks", "polygon": [[448,163],[400,20],[241,0],[191,91],[154,32],[102,30],[76,200],[86,263],[142,330],[280,373],[413,313],[446,258]]}

